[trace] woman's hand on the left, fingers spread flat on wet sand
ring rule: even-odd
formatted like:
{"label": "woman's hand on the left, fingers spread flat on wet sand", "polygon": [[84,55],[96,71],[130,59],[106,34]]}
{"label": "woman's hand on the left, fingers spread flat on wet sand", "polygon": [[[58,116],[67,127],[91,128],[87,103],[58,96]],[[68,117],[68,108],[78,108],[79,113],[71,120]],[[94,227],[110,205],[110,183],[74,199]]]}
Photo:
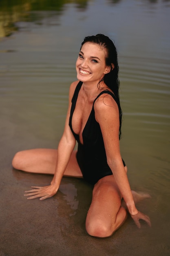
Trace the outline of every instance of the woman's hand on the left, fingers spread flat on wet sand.
{"label": "woman's hand on the left, fingers spread flat on wet sand", "polygon": [[24,196],[28,196],[27,199],[35,199],[40,198],[40,200],[44,200],[46,198],[51,198],[53,195],[57,193],[56,186],[31,186],[31,190],[25,191]]}

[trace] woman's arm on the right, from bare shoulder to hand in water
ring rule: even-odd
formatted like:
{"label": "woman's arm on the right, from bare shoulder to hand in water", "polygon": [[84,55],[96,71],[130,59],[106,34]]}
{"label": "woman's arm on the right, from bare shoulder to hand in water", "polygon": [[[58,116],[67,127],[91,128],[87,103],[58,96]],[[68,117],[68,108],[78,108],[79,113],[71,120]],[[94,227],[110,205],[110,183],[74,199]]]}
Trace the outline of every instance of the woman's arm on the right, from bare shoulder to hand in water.
{"label": "woman's arm on the right, from bare shoulder to hand in water", "polygon": [[97,99],[94,108],[95,118],[100,125],[104,139],[107,163],[113,172],[127,209],[138,227],[140,227],[139,219],[145,220],[150,225],[149,217],[139,212],[135,206],[128,177],[121,159],[119,147],[119,109],[117,103],[109,94],[107,96],[105,94]]}

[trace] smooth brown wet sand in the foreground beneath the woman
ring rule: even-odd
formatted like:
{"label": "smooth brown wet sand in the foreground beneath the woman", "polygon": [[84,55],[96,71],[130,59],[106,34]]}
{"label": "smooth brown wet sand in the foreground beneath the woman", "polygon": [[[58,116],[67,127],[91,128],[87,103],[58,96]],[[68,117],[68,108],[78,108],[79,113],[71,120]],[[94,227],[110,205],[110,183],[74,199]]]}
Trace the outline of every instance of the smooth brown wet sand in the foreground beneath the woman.
{"label": "smooth brown wet sand in the foreground beneath the woman", "polygon": [[138,204],[138,208],[150,216],[152,228],[143,223],[141,229],[137,229],[128,217],[112,237],[102,239],[89,236],[85,230],[92,187],[84,180],[65,177],[53,198],[27,200],[24,190],[32,185],[49,184],[51,176],[32,175],[12,168],[16,151],[24,145],[35,146],[33,136],[28,135],[26,141],[18,140],[13,137],[14,130],[5,121],[0,124],[0,256],[170,255],[169,220],[161,222],[164,214],[155,213],[158,198]]}

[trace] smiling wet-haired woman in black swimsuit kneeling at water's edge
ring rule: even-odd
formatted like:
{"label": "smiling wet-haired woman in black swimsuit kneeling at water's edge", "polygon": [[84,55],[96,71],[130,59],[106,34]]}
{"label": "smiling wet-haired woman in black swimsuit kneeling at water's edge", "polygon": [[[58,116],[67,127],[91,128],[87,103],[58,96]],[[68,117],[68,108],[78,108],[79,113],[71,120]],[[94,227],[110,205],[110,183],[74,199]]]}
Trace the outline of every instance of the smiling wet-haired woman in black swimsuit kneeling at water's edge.
{"label": "smiling wet-haired woman in black swimsuit kneeling at water's edge", "polygon": [[[52,197],[64,175],[84,177],[94,184],[86,231],[96,237],[111,236],[126,220],[127,211],[138,227],[139,219],[150,225],[149,217],[135,207],[134,200],[140,195],[131,191],[127,167],[120,155],[118,70],[112,40],[102,34],[86,37],[76,61],[78,81],[70,86],[66,123],[58,150],[25,150],[13,158],[16,169],[54,175],[49,186],[34,186],[25,191],[28,199]],[[76,140],[78,150],[74,151]],[[122,198],[127,210],[121,205]]]}

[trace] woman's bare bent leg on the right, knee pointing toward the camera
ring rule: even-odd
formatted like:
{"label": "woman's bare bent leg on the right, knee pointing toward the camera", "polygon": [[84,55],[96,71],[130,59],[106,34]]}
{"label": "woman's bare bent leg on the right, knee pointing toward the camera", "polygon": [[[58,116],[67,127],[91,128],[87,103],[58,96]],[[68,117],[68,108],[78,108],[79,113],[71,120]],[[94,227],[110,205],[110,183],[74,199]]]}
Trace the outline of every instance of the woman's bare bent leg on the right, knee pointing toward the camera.
{"label": "woman's bare bent leg on the right, knee pointing toward the camera", "polygon": [[94,186],[91,206],[87,213],[86,230],[96,237],[111,236],[126,220],[121,206],[121,194],[113,175],[100,179]]}

